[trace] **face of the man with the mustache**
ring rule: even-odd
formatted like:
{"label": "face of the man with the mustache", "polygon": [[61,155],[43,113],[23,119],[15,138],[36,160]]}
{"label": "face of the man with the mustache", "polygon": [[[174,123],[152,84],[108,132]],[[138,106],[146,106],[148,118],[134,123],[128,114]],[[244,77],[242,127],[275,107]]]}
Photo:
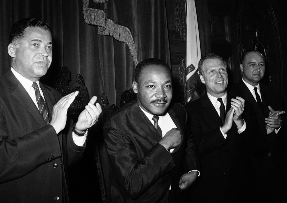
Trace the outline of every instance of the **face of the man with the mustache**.
{"label": "face of the man with the mustache", "polygon": [[170,72],[161,65],[148,65],[142,71],[139,83],[133,82],[137,103],[153,115],[166,113],[172,99]]}

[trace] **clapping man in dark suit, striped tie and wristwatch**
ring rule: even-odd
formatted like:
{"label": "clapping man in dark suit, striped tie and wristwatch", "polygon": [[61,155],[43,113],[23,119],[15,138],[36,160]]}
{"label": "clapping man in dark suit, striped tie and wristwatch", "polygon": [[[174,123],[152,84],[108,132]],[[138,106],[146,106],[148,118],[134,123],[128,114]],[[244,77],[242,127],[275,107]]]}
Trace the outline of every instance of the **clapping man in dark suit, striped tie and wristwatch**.
{"label": "clapping man in dark suit, striped tie and wristwatch", "polygon": [[67,109],[79,92],[61,98],[39,82],[52,47],[46,22],[25,18],[11,28],[11,68],[0,79],[1,202],[69,202],[64,166],[81,157],[101,112],[94,96],[65,133]]}

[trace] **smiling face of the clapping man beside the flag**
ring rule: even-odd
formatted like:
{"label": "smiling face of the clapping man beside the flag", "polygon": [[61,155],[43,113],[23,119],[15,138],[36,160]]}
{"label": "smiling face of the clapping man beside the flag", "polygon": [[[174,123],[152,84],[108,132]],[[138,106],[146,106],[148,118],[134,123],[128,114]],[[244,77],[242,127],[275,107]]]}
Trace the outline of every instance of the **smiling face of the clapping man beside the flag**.
{"label": "smiling face of the clapping man beside the flag", "polygon": [[203,76],[200,80],[206,90],[214,97],[222,97],[226,92],[228,75],[226,67],[220,59],[206,59],[202,64]]}

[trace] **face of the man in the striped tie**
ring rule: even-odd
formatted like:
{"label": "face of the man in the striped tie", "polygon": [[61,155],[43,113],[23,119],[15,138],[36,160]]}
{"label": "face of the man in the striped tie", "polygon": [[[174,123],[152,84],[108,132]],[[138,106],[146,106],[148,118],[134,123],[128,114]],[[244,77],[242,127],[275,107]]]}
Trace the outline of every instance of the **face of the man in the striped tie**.
{"label": "face of the man in the striped tie", "polygon": [[52,35],[39,27],[28,27],[17,46],[8,45],[11,66],[22,76],[37,81],[44,76],[52,62]]}

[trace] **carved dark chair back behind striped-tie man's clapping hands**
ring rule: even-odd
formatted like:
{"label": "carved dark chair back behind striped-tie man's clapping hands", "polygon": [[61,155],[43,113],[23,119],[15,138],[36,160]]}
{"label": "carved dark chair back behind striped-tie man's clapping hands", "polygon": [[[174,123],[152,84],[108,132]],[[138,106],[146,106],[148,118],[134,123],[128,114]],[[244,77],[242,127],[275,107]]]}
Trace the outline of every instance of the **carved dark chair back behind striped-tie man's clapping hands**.
{"label": "carved dark chair back behind striped-tie man's clapping hands", "polygon": [[69,82],[71,81],[71,71],[68,67],[64,66],[59,69],[59,77],[55,85],[55,89],[61,92],[63,96],[70,94],[71,92],[79,91],[75,100],[68,109],[68,114],[71,115],[74,122],[77,121],[79,114],[85,109],[85,106],[89,103],[88,89],[85,86],[84,78],[81,74],[76,75],[76,84],[72,90],[69,88]]}

